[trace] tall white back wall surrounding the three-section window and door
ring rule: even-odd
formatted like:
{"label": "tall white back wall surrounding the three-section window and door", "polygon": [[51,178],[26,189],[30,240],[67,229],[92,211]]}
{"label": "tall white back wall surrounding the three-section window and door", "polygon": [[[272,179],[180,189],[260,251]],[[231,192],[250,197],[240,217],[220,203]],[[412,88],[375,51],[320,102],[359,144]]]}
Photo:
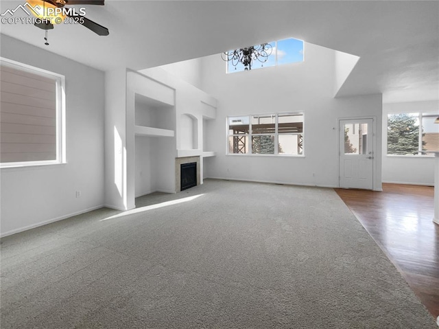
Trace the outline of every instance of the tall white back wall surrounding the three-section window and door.
{"label": "tall white back wall surrounding the three-section window and door", "polygon": [[[203,90],[219,100],[209,122],[207,177],[338,186],[337,120],[375,118],[381,138],[381,94],[333,98],[335,51],[305,43],[305,62],[226,74],[219,55],[204,58]],[[226,155],[227,115],[305,113],[305,157]],[[381,190],[381,144],[376,146],[374,189]]]}

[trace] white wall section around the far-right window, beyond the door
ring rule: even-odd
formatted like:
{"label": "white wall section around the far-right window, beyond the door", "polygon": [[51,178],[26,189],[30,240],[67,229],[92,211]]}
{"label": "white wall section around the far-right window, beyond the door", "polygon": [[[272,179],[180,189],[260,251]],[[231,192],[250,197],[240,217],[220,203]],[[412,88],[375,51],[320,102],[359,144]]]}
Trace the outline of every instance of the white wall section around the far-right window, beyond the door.
{"label": "white wall section around the far-right window, beyond the door", "polygon": [[438,111],[437,100],[383,104],[383,182],[434,185],[434,157],[387,155],[387,116],[390,113],[438,113]]}

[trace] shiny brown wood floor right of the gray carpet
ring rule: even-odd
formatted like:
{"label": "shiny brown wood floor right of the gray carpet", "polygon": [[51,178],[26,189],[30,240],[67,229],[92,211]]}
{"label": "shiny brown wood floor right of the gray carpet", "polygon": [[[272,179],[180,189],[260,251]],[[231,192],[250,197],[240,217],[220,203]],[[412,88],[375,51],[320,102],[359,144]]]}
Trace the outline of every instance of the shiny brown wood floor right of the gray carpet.
{"label": "shiny brown wood floor right of the gray carpet", "polygon": [[434,188],[383,184],[383,192],[335,189],[429,312],[439,315],[439,225]]}

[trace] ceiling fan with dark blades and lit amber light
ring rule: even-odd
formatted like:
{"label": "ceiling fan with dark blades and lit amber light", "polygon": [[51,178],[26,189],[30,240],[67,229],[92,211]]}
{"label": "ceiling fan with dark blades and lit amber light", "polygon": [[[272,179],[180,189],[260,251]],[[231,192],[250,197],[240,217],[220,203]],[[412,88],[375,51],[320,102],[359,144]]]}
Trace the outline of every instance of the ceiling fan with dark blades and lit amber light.
{"label": "ceiling fan with dark blades and lit amber light", "polygon": [[32,14],[41,19],[34,25],[43,30],[52,30],[54,24],[60,24],[66,17],[74,19],[75,23],[79,23],[95,32],[99,36],[108,36],[108,29],[98,23],[87,19],[74,8],[65,8],[64,5],[104,5],[104,0],[27,0],[32,8]]}

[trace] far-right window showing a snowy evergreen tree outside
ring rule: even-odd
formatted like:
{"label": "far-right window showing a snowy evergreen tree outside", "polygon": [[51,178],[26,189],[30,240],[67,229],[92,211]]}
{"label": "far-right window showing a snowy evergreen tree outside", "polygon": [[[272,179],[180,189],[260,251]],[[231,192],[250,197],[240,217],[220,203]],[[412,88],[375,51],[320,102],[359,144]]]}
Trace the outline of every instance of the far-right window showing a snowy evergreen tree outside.
{"label": "far-right window showing a snowy evergreen tree outside", "polygon": [[387,154],[416,156],[439,151],[439,113],[395,113],[388,115]]}

